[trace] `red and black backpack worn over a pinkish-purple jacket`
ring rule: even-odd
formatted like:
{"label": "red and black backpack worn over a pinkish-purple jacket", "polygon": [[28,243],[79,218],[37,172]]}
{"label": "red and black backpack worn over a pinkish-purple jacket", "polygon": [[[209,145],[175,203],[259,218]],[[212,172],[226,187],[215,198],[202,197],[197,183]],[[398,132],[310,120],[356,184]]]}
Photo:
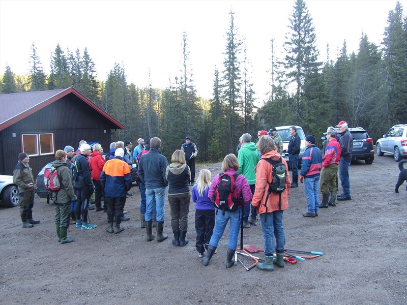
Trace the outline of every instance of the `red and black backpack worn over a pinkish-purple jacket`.
{"label": "red and black backpack worn over a pinkish-purple jacket", "polygon": [[220,173],[219,180],[213,195],[215,207],[225,211],[234,212],[242,206],[242,197],[237,194],[235,181],[239,174],[231,175],[228,173]]}

